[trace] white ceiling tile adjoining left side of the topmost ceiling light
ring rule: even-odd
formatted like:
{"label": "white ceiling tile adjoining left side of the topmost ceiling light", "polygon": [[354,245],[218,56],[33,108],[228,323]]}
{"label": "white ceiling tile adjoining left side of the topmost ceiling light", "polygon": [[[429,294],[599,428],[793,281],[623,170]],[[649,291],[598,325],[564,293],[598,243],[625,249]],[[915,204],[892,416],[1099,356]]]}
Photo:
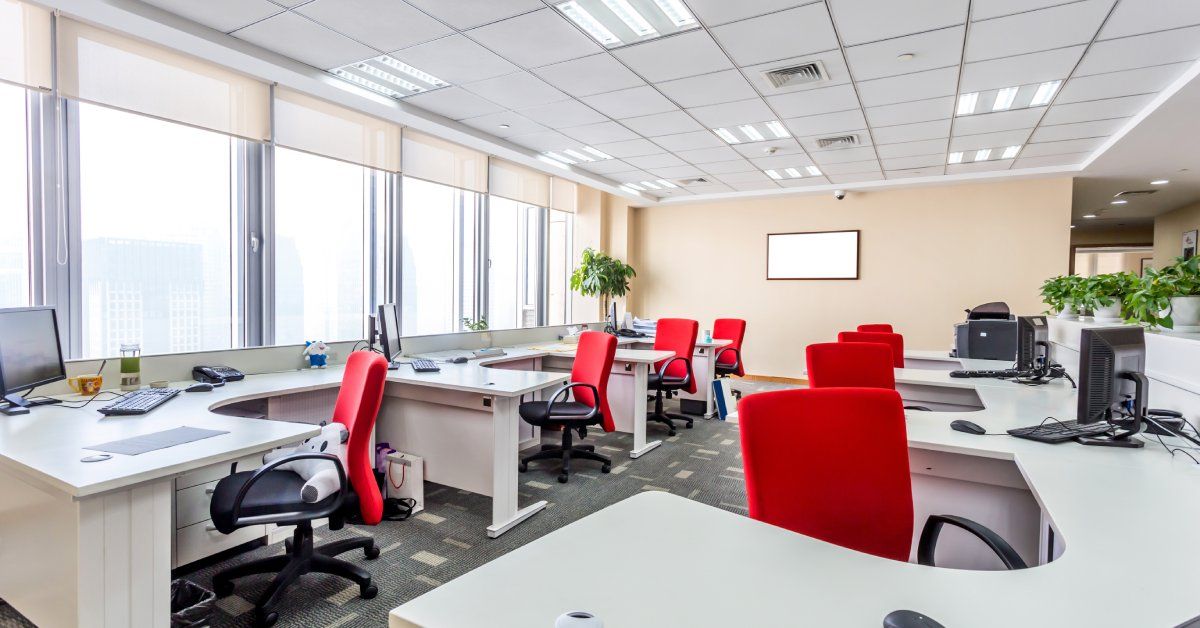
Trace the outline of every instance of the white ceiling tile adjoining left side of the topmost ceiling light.
{"label": "white ceiling tile adjoining left side of the topmost ceiling light", "polygon": [[522,67],[601,52],[600,44],[550,7],[468,30],[467,36]]}

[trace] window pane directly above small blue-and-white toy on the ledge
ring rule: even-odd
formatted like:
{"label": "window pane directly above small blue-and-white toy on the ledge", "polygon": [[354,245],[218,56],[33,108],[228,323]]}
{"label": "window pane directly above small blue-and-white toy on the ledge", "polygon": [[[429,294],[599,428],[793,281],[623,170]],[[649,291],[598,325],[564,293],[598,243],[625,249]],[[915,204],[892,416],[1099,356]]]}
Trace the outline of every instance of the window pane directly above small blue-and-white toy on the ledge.
{"label": "window pane directly above small blue-and-white toy on the ledge", "polygon": [[275,150],[275,342],[358,340],[366,325],[371,171]]}

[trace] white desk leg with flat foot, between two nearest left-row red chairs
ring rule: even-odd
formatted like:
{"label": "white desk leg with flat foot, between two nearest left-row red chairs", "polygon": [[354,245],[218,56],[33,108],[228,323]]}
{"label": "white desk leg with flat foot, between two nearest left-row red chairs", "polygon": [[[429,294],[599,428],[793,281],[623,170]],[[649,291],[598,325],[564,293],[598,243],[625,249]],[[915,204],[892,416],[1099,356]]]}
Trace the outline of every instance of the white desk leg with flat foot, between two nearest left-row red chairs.
{"label": "white desk leg with flat foot, between two nearest left-row red chairs", "polygon": [[487,536],[497,538],[546,508],[546,502],[517,507],[517,397],[492,397],[492,525]]}

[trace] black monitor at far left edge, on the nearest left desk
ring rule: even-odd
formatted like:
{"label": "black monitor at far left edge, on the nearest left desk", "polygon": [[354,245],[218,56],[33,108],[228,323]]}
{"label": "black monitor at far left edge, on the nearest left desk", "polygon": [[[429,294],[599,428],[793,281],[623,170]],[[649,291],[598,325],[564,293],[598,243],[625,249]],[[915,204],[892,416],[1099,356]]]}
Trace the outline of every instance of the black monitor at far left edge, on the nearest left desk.
{"label": "black monitor at far left edge, on the nearest left desk", "polygon": [[54,307],[0,310],[0,390],[6,414],[29,412],[19,393],[66,379]]}

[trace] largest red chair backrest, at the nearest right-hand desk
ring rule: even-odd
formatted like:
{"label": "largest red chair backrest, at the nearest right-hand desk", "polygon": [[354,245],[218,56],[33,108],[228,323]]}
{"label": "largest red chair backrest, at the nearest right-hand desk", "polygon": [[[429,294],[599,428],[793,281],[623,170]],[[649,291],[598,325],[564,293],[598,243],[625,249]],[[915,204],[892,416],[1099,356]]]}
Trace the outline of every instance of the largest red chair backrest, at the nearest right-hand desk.
{"label": "largest red chair backrest, at the nearest right-hand desk", "polygon": [[908,560],[912,484],[896,391],[758,393],[738,403],[738,423],[752,519],[875,556]]}

